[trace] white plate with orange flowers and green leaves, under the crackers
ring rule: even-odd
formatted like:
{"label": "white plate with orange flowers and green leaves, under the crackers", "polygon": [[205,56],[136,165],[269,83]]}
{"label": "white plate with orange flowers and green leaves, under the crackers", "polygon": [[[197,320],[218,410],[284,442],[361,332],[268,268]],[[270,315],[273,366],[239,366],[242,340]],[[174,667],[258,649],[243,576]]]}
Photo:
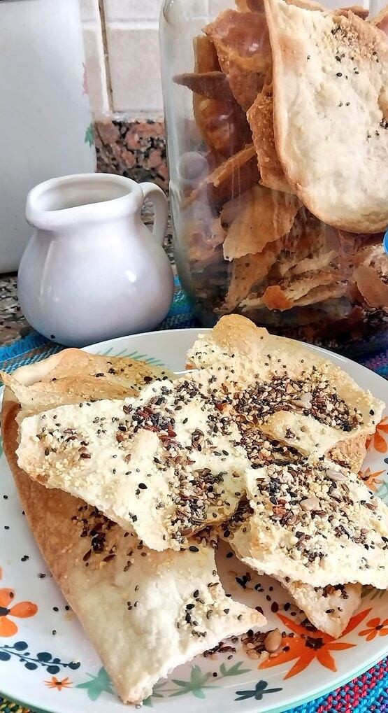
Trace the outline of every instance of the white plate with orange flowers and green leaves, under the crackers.
{"label": "white plate with orange flowers and green leaves, under the crackers", "polygon": [[[182,371],[198,332],[140,334],[95,344],[87,351],[132,356]],[[325,354],[388,403],[387,381],[348,359]],[[387,464],[388,411],[369,443],[362,468],[369,488],[388,504]],[[306,627],[303,615],[275,581],[249,571],[226,547],[221,547],[218,558],[226,591],[241,602],[262,607],[268,628],[287,632],[285,650],[260,664],[246,655],[241,642],[226,642],[225,652],[197,657],[159,682],[145,701],[155,712],[180,713],[183,704],[191,713],[280,713],[345,684],[387,655],[388,592],[365,588],[360,610],[342,637],[333,640]],[[35,711],[128,711],[115,696],[98,655],[41,558],[4,456],[0,458],[0,691]]]}

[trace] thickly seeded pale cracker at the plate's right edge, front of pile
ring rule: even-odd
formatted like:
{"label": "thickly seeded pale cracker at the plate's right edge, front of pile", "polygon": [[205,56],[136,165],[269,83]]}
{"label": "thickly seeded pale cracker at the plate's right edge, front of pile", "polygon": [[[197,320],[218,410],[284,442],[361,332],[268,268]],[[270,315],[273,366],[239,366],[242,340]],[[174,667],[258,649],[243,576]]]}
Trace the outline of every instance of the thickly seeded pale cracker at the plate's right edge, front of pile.
{"label": "thickly seeded pale cracker at the plate's right edge, front of pile", "polygon": [[358,476],[330,461],[305,460],[246,478],[248,525],[224,529],[244,562],[286,583],[387,588],[388,508]]}

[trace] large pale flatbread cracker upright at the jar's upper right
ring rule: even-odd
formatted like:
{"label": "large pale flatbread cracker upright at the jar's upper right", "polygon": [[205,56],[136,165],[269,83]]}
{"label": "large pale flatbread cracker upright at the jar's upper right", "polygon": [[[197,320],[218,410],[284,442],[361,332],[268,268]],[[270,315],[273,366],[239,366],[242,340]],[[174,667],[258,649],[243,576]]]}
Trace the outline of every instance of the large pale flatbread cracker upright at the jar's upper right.
{"label": "large pale flatbread cracker upright at the jar's upper right", "polygon": [[388,46],[382,32],[351,11],[308,11],[283,0],[265,5],[276,151],[290,185],[330,225],[383,230]]}

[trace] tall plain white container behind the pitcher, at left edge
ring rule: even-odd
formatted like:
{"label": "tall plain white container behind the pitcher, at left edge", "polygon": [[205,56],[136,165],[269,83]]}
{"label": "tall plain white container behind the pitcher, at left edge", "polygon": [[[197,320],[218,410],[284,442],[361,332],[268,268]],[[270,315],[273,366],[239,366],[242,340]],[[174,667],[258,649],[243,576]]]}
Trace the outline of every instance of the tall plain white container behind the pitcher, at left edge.
{"label": "tall plain white container behind the pitcher, at left edge", "polygon": [[95,170],[78,0],[0,1],[0,272],[31,236],[37,183]]}

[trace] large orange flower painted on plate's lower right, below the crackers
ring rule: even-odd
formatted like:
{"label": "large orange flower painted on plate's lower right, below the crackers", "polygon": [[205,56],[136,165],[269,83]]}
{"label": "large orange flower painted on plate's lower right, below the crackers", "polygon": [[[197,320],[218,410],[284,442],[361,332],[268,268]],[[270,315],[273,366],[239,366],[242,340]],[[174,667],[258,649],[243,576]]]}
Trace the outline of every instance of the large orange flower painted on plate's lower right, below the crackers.
{"label": "large orange flower painted on plate's lower right, below the crackers", "polygon": [[[370,611],[370,609],[366,609],[352,617],[342,637],[355,629]],[[271,668],[288,663],[288,661],[295,661],[296,659],[293,667],[285,674],[285,679],[296,676],[296,674],[304,671],[315,659],[320,665],[330,669],[330,671],[337,671],[332,652],[344,651],[345,649],[351,649],[355,646],[355,644],[333,639],[332,636],[323,634],[323,632],[315,629],[313,625],[305,627],[302,624],[297,624],[292,619],[288,619],[288,617],[285,617],[283,614],[278,614],[278,617],[296,636],[288,635],[284,637],[283,651],[277,656],[269,658],[262,664],[259,664],[258,668]]]}

